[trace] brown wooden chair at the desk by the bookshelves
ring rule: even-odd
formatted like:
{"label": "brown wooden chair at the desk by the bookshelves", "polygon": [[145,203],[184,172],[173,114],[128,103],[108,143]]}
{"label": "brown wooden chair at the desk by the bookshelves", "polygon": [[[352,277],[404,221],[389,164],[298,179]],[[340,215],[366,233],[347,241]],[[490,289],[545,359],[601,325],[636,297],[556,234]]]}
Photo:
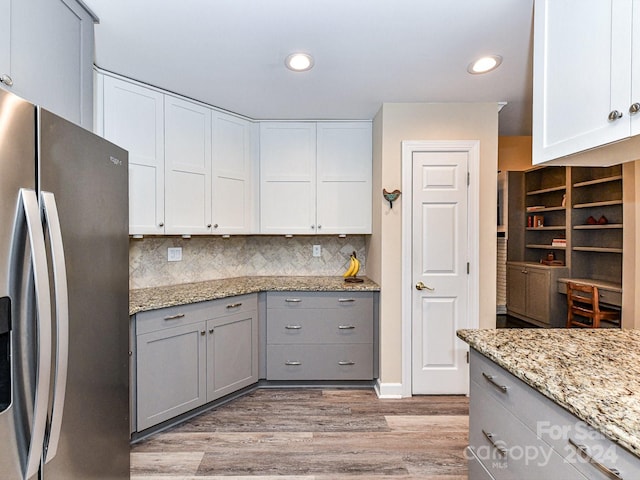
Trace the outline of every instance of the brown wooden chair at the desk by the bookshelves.
{"label": "brown wooden chair at the desk by the bookshelves", "polygon": [[620,326],[620,310],[601,308],[595,285],[567,282],[567,328],[600,328],[601,320]]}

